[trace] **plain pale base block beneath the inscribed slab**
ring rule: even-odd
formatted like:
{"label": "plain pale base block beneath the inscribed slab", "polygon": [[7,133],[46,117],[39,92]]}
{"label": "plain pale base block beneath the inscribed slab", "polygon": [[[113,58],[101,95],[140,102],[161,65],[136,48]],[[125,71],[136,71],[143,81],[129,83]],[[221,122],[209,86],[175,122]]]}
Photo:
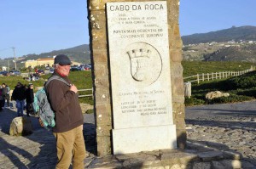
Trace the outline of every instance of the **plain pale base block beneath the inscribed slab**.
{"label": "plain pale base block beneath the inscribed slab", "polygon": [[113,129],[113,155],[176,149],[176,126]]}

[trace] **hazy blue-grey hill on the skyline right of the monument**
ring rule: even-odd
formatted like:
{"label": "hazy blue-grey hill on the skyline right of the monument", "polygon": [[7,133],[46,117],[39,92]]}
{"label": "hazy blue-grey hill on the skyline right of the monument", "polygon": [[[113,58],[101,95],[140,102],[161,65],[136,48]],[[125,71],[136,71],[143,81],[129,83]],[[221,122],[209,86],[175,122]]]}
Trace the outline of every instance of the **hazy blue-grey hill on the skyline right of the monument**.
{"label": "hazy blue-grey hill on the skyline right of the monument", "polygon": [[208,33],[197,33],[183,36],[183,45],[206,43],[206,42],[229,42],[229,41],[256,41],[256,26],[245,25],[241,27],[232,26],[230,29],[211,31]]}

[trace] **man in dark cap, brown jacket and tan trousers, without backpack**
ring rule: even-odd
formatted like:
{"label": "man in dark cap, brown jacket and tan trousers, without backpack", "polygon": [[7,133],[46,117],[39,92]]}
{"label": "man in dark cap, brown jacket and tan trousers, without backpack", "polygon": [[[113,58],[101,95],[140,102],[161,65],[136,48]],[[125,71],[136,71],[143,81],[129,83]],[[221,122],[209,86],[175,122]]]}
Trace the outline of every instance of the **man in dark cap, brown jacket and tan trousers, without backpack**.
{"label": "man in dark cap, brown jacket and tan trousers, without backpack", "polygon": [[[55,57],[55,72],[53,76],[60,76],[71,84],[67,78],[72,62],[64,55]],[[46,88],[49,103],[55,111],[55,127],[53,132],[56,139],[58,163],[56,168],[69,168],[73,161],[73,168],[84,168],[85,145],[83,135],[84,117],[79,105],[78,89],[65,83],[53,80]]]}

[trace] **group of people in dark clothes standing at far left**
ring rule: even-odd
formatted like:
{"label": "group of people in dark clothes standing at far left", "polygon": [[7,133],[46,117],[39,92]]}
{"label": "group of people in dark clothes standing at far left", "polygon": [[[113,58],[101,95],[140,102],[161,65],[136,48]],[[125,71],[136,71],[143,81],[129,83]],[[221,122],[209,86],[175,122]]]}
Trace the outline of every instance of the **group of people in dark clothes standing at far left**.
{"label": "group of people in dark clothes standing at far left", "polygon": [[[23,116],[23,110],[26,108],[26,115],[30,116],[33,113],[32,103],[34,101],[33,85],[30,83],[28,87],[17,83],[10,97],[10,88],[5,83],[0,88],[0,110],[3,110],[6,100],[6,107],[10,108],[9,100],[16,102],[17,115]],[[26,107],[25,107],[26,106]]]}

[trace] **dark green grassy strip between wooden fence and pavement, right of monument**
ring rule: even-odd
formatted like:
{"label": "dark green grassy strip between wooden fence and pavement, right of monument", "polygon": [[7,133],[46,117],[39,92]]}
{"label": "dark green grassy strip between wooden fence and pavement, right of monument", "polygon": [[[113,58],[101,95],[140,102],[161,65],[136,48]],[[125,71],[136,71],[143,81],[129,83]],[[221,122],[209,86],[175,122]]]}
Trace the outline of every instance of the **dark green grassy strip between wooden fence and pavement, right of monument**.
{"label": "dark green grassy strip between wooden fence and pavement, right of monument", "polygon": [[[185,98],[186,105],[226,104],[256,99],[256,71],[225,80],[192,84],[191,98]],[[206,94],[213,91],[230,93],[229,97],[206,99]]]}

